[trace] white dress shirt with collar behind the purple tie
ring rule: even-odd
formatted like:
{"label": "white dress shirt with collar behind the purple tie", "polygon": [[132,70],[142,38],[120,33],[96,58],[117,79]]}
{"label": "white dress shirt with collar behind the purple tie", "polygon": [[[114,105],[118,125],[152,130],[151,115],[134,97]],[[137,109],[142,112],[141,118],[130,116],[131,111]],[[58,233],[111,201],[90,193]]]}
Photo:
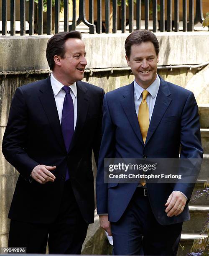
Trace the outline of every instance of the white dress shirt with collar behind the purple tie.
{"label": "white dress shirt with collar behind the purple tie", "polygon": [[[53,73],[51,73],[51,87],[54,92],[54,99],[56,102],[56,108],[58,111],[59,115],[59,121],[61,124],[62,120],[62,108],[63,108],[63,102],[64,102],[64,97],[66,95],[66,92],[62,90],[62,87],[64,84],[61,84],[54,76]],[[76,127],[76,121],[77,121],[77,111],[78,111],[78,103],[77,103],[77,87],[76,87],[76,82],[74,84],[70,85],[70,95],[73,99],[73,106],[74,106],[74,131]]]}

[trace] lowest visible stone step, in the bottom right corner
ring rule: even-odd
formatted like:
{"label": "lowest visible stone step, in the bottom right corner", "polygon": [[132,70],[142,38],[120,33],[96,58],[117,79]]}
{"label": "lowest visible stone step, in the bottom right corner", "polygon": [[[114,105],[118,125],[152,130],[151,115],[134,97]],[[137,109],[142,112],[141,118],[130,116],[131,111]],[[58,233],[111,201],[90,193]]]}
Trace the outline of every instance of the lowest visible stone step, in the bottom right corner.
{"label": "lowest visible stone step, in the bottom right corner", "polygon": [[190,253],[191,247],[193,245],[194,239],[203,238],[206,235],[199,235],[199,234],[181,234],[181,246],[184,246],[184,251],[182,250],[181,246],[178,246],[178,253],[177,256],[185,256],[187,253]]}

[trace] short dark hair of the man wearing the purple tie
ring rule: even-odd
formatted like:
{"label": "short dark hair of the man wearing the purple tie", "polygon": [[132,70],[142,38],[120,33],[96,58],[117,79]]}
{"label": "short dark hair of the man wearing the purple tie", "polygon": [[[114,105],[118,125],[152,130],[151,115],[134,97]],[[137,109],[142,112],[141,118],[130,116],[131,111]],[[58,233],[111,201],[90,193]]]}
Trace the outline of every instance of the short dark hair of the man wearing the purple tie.
{"label": "short dark hair of the man wearing the purple tie", "polygon": [[46,47],[46,59],[48,61],[48,66],[51,70],[54,69],[54,56],[58,55],[62,59],[65,56],[65,42],[68,38],[78,38],[82,39],[81,33],[79,31],[70,32],[59,32],[52,36],[47,43]]}

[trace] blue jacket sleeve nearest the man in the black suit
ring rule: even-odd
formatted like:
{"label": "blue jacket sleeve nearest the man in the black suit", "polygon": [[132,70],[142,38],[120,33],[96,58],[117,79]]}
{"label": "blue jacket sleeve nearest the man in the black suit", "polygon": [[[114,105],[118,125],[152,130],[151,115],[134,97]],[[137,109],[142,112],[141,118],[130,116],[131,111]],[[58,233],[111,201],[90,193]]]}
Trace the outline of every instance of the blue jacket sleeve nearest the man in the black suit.
{"label": "blue jacket sleeve nearest the man in the black suit", "polygon": [[102,142],[99,151],[99,161],[96,179],[97,213],[108,212],[107,183],[104,183],[104,159],[115,157],[115,125],[112,123],[107,94],[104,95],[102,118]]}

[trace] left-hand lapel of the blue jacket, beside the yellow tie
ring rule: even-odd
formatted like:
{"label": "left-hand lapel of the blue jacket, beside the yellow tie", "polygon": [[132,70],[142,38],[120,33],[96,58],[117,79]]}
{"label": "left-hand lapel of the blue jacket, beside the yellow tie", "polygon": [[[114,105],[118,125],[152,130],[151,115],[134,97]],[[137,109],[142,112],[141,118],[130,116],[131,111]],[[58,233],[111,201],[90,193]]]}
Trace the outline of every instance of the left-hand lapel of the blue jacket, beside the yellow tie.
{"label": "left-hand lapel of the blue jacket, beside the yellow tie", "polygon": [[126,87],[126,90],[121,97],[121,105],[136,136],[138,137],[140,142],[144,144],[135,110],[134,82]]}

